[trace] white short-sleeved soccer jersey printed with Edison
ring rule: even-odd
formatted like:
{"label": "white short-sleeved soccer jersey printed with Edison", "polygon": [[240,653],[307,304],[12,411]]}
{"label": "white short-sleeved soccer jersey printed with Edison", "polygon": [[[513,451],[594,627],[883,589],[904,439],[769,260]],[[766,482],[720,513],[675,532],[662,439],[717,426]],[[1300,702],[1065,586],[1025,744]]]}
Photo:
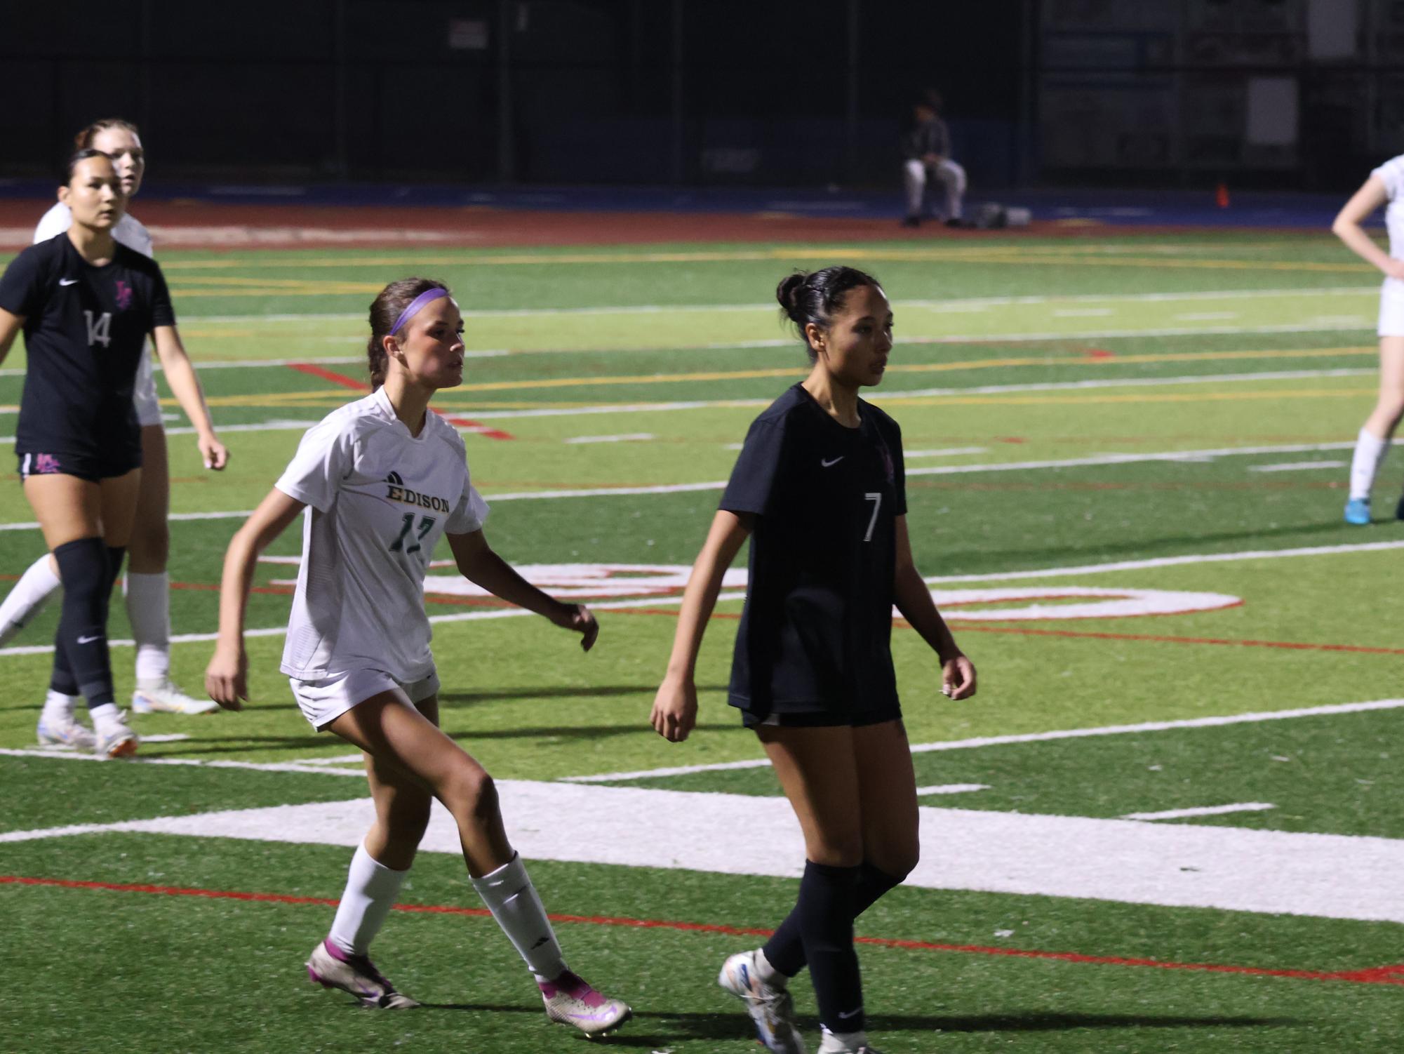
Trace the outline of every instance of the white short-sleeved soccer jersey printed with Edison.
{"label": "white short-sleeved soccer jersey printed with Edison", "polygon": [[427,676],[430,556],[445,532],[472,533],[487,518],[463,438],[432,413],[410,435],[380,389],[309,428],[277,487],[310,507],[282,672]]}

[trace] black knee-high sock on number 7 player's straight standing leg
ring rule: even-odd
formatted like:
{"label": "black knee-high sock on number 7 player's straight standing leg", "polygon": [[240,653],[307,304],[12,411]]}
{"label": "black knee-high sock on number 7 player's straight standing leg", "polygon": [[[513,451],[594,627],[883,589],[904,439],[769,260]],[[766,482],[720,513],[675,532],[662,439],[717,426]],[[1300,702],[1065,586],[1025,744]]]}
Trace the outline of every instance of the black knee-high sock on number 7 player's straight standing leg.
{"label": "black knee-high sock on number 7 player's straight standing leg", "polygon": [[819,1019],[830,1032],[863,1027],[863,985],[854,952],[854,893],[858,867],[804,863],[799,884],[799,935],[819,999]]}

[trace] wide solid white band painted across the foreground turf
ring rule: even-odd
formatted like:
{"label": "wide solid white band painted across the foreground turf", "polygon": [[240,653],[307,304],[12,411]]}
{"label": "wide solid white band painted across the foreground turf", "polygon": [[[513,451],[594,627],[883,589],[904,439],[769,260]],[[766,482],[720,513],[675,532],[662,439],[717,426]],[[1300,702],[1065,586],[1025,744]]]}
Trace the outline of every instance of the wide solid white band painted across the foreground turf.
{"label": "wide solid white band painted across the foreground turf", "polygon": [[[498,780],[497,790],[512,845],[528,859],[786,879],[803,869],[803,836],[782,797],[525,780]],[[600,838],[581,827],[581,815],[629,817],[629,836]],[[131,831],[350,849],[373,818],[369,799],[358,797],[14,831],[0,839]],[[906,883],[918,888],[1404,922],[1400,839],[929,806],[920,820],[921,863]],[[452,817],[437,803],[420,848],[462,852]]]}

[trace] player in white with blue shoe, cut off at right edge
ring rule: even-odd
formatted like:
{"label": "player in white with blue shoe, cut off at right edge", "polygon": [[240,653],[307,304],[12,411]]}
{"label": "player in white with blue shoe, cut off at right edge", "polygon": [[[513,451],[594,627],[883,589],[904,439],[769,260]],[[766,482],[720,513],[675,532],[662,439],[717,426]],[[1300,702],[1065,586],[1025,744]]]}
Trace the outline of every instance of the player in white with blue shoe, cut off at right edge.
{"label": "player in white with blue shoe, cut off at right edge", "polygon": [[[1365,233],[1360,225],[1366,216],[1384,208],[1384,225],[1390,234],[1386,253]],[[1380,392],[1375,410],[1360,427],[1351,459],[1351,493],[1345,502],[1345,522],[1370,522],[1370,491],[1380,462],[1389,451],[1394,429],[1404,417],[1404,154],[1390,159],[1370,173],[1335,218],[1331,230],[1349,248],[1384,272],[1380,289]],[[1394,509],[1404,519],[1404,498]]]}

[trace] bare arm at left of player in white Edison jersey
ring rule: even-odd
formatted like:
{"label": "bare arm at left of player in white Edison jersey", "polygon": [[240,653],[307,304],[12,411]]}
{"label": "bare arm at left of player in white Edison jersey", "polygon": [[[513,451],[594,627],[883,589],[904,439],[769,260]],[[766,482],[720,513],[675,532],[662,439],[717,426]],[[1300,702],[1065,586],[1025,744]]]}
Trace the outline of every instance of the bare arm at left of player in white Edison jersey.
{"label": "bare arm at left of player in white Edison jersey", "polygon": [[249,698],[249,655],[244,651],[244,613],[258,556],[295,521],[303,502],[274,487],[258,502],[225,552],[219,582],[219,639],[205,668],[205,691],[226,710],[241,710]]}

